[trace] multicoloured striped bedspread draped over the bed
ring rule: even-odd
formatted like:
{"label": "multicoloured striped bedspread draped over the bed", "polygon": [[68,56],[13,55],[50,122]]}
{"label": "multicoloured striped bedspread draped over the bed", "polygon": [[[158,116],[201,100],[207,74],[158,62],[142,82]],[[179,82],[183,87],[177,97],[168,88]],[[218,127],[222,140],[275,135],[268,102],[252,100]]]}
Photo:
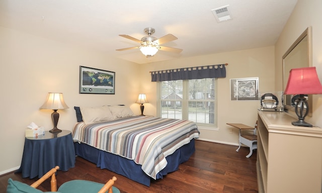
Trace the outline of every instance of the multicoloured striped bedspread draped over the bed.
{"label": "multicoloured striped bedspread draped over the bed", "polygon": [[194,122],[134,116],[85,125],[73,129],[73,140],[114,153],[142,165],[152,177],[167,165],[166,156],[199,137]]}

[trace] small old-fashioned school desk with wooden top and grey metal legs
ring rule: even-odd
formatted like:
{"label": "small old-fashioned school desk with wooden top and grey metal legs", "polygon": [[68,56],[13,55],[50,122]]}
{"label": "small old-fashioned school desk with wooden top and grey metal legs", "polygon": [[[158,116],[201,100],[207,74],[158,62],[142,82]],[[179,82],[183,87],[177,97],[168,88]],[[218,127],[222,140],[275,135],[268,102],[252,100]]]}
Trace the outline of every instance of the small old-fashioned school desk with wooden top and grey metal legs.
{"label": "small old-fashioned school desk with wooden top and grey metal legs", "polygon": [[227,123],[227,125],[239,129],[239,147],[236,149],[236,151],[238,152],[241,144],[244,144],[250,148],[250,153],[246,157],[251,157],[253,154],[253,150],[257,149],[257,121],[255,127],[250,127],[239,123]]}

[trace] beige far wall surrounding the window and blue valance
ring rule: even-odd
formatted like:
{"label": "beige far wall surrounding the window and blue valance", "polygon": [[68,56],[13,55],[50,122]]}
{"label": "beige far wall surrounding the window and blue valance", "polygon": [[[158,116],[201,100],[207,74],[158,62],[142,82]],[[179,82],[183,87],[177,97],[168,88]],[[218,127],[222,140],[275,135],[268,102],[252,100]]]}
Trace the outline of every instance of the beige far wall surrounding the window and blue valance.
{"label": "beige far wall surrounding the window and blue valance", "polygon": [[142,64],[141,90],[149,100],[144,104],[144,113],[156,115],[156,83],[151,82],[149,71],[174,69],[180,67],[204,66],[228,63],[226,77],[218,79],[218,130],[200,129],[200,138],[207,141],[227,144],[238,143],[238,130],[229,134],[226,123],[243,123],[254,126],[257,120],[259,101],[230,101],[230,78],[259,77],[260,92],[274,91],[274,47],[239,50],[192,58]]}

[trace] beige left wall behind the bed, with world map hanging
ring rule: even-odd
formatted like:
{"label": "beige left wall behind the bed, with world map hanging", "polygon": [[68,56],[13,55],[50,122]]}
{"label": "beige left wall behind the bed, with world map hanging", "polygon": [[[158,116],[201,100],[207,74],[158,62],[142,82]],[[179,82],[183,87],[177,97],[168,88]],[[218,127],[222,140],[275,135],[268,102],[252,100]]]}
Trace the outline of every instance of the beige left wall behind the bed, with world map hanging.
{"label": "beige left wall behind the bed, with world map hanging", "polygon": [[[71,130],[74,106],[124,104],[139,114],[139,65],[0,27],[0,174],[21,163],[31,122],[52,129],[52,110],[39,110],[48,92],[62,92],[69,109],[58,110],[58,128]],[[116,94],[78,94],[79,65],[116,73]]]}

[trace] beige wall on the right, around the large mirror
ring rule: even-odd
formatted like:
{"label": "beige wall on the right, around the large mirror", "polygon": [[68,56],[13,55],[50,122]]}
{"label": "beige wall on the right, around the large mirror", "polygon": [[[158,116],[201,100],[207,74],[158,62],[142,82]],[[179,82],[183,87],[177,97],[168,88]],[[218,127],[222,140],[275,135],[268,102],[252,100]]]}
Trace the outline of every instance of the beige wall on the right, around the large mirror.
{"label": "beige wall on the right, around the large mirror", "polygon": [[[312,27],[312,66],[316,67],[317,75],[322,81],[322,1],[299,0],[275,45],[276,89],[282,89],[282,56],[299,35],[308,27]],[[322,127],[322,94],[313,95],[313,115],[305,121]],[[293,116],[295,116],[293,114]]]}

